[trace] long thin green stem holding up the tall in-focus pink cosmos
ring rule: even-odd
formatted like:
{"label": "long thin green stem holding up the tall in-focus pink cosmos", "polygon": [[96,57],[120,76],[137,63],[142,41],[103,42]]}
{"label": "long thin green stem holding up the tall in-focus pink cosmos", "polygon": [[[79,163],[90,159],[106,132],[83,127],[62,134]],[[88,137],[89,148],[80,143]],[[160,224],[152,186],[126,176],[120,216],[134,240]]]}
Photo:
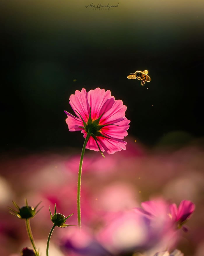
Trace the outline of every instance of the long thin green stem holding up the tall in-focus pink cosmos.
{"label": "long thin green stem holding up the tall in-focus pink cosmos", "polygon": [[82,147],[82,153],[81,153],[81,158],[80,158],[80,162],[79,162],[78,183],[77,183],[77,219],[78,219],[79,228],[81,228],[81,226],[82,226],[82,223],[81,223],[81,201],[80,201],[80,198],[81,198],[82,164],[83,164],[84,152],[85,152],[87,142],[89,140],[89,136],[90,136],[90,131],[88,130],[87,136],[86,136],[85,141],[84,141],[84,145]]}

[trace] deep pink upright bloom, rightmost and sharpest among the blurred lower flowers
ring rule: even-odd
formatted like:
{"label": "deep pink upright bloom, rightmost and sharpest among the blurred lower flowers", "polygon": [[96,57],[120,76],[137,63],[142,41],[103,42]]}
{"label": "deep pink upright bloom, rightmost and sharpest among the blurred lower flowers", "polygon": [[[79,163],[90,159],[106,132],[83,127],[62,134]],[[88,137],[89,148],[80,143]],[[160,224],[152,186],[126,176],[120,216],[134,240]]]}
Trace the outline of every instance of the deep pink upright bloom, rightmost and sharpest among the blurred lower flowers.
{"label": "deep pink upright bloom, rightmost and sharpest among the blurred lower flowers", "polygon": [[169,208],[173,221],[183,223],[191,217],[191,214],[195,210],[195,205],[191,201],[183,200],[180,202],[178,208],[176,204],[171,204]]}

